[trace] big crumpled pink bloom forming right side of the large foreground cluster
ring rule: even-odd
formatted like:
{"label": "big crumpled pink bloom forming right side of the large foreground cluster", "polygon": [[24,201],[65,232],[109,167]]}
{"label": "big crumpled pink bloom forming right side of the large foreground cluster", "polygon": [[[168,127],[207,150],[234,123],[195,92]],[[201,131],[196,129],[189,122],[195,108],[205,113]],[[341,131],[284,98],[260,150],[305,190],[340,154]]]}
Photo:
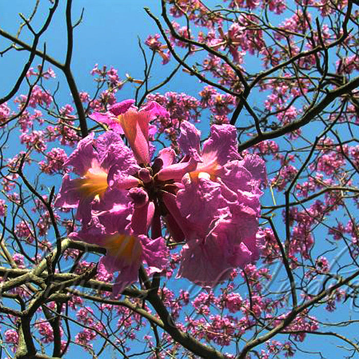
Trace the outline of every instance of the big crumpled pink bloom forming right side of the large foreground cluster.
{"label": "big crumpled pink bloom forming right side of the large foreground cluster", "polygon": [[[183,175],[175,201],[164,196],[170,212],[167,224],[175,241],[187,242],[178,276],[212,287],[228,278],[233,268],[258,258],[256,232],[265,165],[256,155],[240,156],[231,125],[213,125],[202,151],[200,133],[193,125],[183,123],[181,132],[181,149],[198,162]],[[167,177],[169,171],[167,167],[158,176]]]}

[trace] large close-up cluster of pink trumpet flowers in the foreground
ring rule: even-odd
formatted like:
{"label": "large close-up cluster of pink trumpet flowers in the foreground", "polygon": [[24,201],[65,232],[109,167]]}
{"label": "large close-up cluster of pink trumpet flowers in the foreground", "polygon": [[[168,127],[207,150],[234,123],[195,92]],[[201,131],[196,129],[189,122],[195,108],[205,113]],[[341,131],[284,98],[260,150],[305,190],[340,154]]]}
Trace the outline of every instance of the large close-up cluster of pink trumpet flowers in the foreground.
{"label": "large close-up cluster of pink trumpet flowers in the foreground", "polygon": [[143,261],[150,273],[165,269],[161,217],[172,241],[185,242],[177,277],[213,287],[258,258],[263,160],[240,156],[231,125],[213,125],[201,150],[200,132],[185,121],[178,138],[181,161],[164,148],[151,163],[149,124],[166,115],[156,102],[138,110],[133,100],[95,112],[92,118],[111,130],[82,139],[64,164],[79,177],[64,176],[55,204],[77,208],[82,229],[71,238],[106,248],[101,263],[119,271],[114,294],[136,281]]}

